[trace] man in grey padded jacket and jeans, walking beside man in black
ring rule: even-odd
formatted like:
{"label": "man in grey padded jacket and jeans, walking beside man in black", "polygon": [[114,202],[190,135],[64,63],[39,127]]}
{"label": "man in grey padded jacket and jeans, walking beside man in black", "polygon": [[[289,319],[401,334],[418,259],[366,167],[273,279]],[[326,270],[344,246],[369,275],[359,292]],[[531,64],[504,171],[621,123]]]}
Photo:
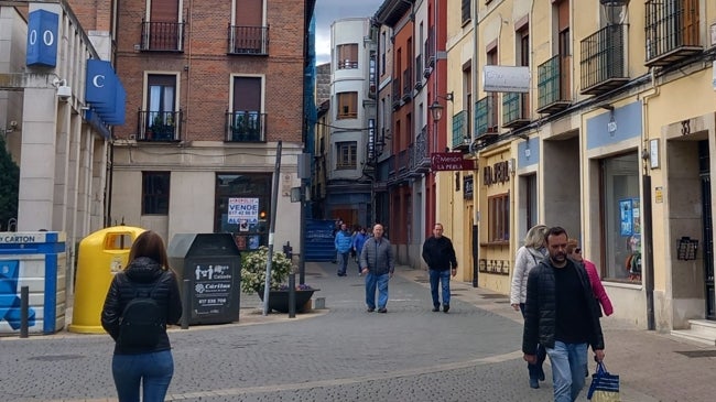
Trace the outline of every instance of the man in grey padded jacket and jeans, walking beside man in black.
{"label": "man in grey padded jacket and jeans, walking beside man in black", "polygon": [[360,252],[361,273],[366,275],[366,305],[368,313],[376,311],[376,287],[378,287],[378,313],[388,313],[388,281],[393,278],[395,260],[390,241],[383,238],[383,226],[373,226],[373,237],[366,240]]}

